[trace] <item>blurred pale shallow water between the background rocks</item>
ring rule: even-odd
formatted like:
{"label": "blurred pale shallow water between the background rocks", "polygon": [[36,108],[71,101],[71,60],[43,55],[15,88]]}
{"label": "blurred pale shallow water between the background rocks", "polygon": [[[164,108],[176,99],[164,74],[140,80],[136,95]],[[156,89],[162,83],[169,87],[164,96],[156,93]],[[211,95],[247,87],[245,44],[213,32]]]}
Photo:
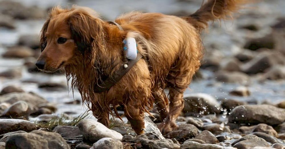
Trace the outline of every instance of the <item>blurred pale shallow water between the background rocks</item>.
{"label": "blurred pale shallow water between the background rocks", "polygon": [[[17,0],[24,5],[37,5],[43,9],[47,9],[54,5],[72,5],[73,1],[67,0]],[[187,2],[187,0],[176,1],[176,0],[145,0],[145,1],[111,1],[111,0],[82,0],[74,1],[80,6],[88,6],[99,12],[102,17],[107,20],[113,20],[121,13],[125,13],[133,10],[141,10],[146,12],[160,12],[166,14],[173,14],[178,11],[186,11],[187,13],[194,12],[200,7],[201,1],[192,1],[192,3]],[[216,44],[218,51],[222,56],[231,56],[239,52],[242,48],[241,44],[244,43],[246,37],[257,37],[264,36],[268,34],[271,29],[268,27],[269,24],[274,23],[277,17],[284,16],[285,11],[284,0],[273,0],[273,1],[263,1],[254,6],[251,10],[247,11],[257,11],[259,15],[265,15],[266,17],[260,17],[254,19],[255,22],[260,23],[260,31],[252,33],[245,30],[237,30],[237,26],[240,24],[246,24],[252,19],[243,16],[237,20],[225,21],[221,23],[221,27],[210,27],[207,33],[203,35],[203,43],[205,47],[210,47],[211,44]],[[19,36],[23,34],[39,34],[39,31],[44,23],[44,19],[38,20],[25,20],[16,21],[17,28],[15,30],[7,30],[0,28],[0,54],[6,51],[4,46],[15,45],[18,42]],[[262,23],[262,24],[261,24]],[[217,26],[218,23],[215,23]],[[219,37],[219,38],[217,38]],[[1,46],[2,45],[2,46]],[[213,50],[207,48],[207,50]],[[207,52],[206,52],[207,54]],[[64,102],[72,101],[73,99],[81,99],[78,92],[73,93],[68,90],[60,91],[47,91],[44,89],[39,89],[37,83],[23,83],[23,80],[34,79],[38,82],[54,81],[54,82],[66,82],[66,77],[64,75],[46,75],[43,73],[31,74],[27,72],[27,69],[23,67],[23,59],[5,59],[0,58],[0,72],[8,70],[10,68],[20,69],[23,72],[23,76],[18,79],[3,79],[0,78],[0,89],[7,85],[17,85],[23,88],[25,91],[33,91],[39,95],[45,97],[48,101],[56,103],[58,106],[58,111],[56,113],[63,112],[74,112],[83,113],[86,108],[82,105],[66,105]],[[201,80],[196,80],[191,83],[189,89],[186,90],[185,94],[188,93],[207,93],[212,95],[217,99],[238,99],[242,101],[256,100],[258,103],[263,101],[270,101],[271,103],[278,103],[282,99],[285,99],[285,81],[264,81],[259,82],[255,77],[251,77],[251,82],[247,83],[251,96],[249,97],[237,97],[229,95],[229,91],[239,86],[239,84],[223,83],[215,81],[212,72],[201,70],[204,78]],[[76,115],[76,114],[75,114]]]}

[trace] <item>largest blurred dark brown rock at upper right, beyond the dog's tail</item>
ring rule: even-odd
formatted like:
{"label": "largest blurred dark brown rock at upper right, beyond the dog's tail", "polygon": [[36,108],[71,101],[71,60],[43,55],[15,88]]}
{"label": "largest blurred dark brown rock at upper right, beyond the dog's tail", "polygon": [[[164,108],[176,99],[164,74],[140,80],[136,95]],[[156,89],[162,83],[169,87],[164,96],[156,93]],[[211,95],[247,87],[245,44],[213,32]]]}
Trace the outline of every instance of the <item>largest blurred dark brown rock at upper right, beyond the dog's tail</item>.
{"label": "largest blurred dark brown rock at upper right, beyond the dog's tail", "polygon": [[260,48],[273,49],[274,46],[274,38],[272,37],[272,35],[267,35],[262,38],[255,38],[247,41],[244,48],[255,51]]}

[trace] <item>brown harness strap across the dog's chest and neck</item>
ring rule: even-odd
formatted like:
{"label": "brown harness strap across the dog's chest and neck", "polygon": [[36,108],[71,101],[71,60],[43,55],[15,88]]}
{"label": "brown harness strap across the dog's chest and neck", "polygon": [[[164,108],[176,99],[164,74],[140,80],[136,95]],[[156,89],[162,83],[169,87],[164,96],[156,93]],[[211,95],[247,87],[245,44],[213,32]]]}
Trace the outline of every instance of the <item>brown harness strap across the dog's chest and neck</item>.
{"label": "brown harness strap across the dog's chest and neck", "polygon": [[[120,30],[123,28],[116,22],[109,21],[108,23],[118,26]],[[113,75],[108,76],[105,80],[98,80],[98,84],[94,85],[95,93],[102,93],[108,91],[112,86],[114,86],[120,79],[141,59],[143,56],[138,53],[135,60],[130,60],[126,58],[125,50],[122,49],[124,56],[124,65],[119,68],[117,72]]]}

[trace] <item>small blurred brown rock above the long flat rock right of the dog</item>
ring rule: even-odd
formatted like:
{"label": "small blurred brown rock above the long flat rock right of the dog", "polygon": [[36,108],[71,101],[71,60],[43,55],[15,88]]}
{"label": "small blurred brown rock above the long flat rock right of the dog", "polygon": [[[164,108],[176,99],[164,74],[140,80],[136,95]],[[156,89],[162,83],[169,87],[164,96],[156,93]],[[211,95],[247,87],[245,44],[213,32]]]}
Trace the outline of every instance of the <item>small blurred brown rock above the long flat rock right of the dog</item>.
{"label": "small blurred brown rock above the long flat rock right of the dog", "polygon": [[221,70],[228,72],[238,72],[241,70],[240,66],[241,62],[236,58],[225,59],[220,64]]}

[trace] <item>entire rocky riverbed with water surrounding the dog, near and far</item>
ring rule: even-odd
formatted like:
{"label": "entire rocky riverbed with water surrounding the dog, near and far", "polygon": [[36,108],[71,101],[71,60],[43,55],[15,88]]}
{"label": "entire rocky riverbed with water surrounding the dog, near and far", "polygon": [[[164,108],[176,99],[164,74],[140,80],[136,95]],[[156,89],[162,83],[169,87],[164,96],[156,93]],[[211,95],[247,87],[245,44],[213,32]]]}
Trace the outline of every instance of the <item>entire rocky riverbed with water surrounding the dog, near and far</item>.
{"label": "entire rocky riverbed with water surrounding the dog, near and far", "polygon": [[203,65],[184,94],[178,129],[164,135],[155,105],[143,135],[125,117],[106,128],[70,91],[63,71],[37,70],[48,9],[71,4],[110,21],[132,10],[189,15],[201,1],[0,0],[0,149],[285,149],[284,0],[248,5],[203,33]]}

